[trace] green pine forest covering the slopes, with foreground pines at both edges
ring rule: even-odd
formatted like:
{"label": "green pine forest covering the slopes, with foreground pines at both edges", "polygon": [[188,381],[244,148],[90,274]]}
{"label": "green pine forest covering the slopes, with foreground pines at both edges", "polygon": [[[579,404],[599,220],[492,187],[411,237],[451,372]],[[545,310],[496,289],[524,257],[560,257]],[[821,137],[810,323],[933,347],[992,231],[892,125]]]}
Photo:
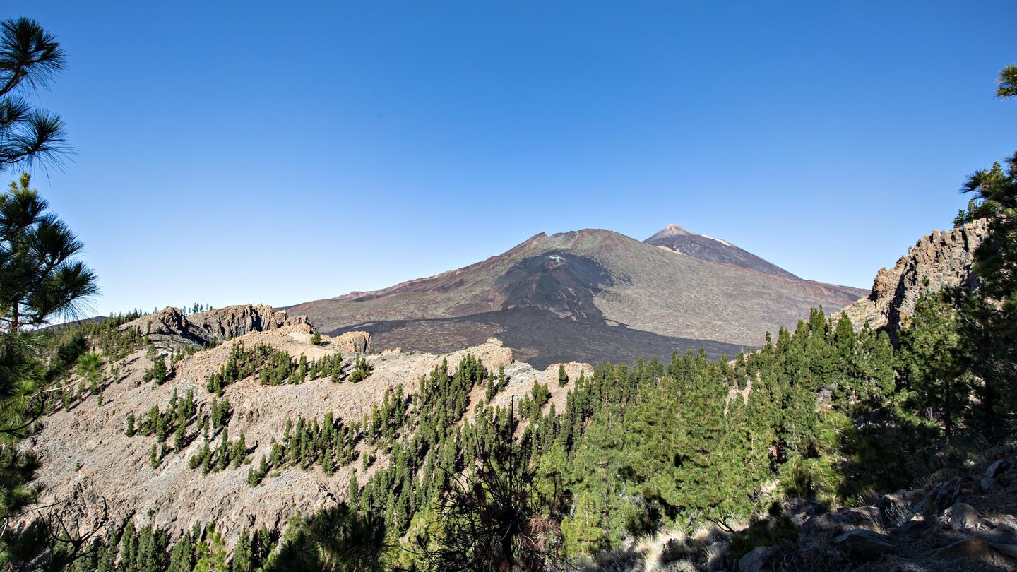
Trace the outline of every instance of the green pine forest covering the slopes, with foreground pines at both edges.
{"label": "green pine forest covering the slopes, with foreground pines at both edges", "polygon": [[[62,51],[37,22],[8,20],[0,33],[26,39],[14,42],[26,51],[21,59],[0,53],[8,85],[60,68]],[[1015,84],[1017,68],[1007,67],[998,95],[1013,96]],[[20,101],[12,89],[0,91],[8,110]],[[40,139],[0,149],[4,168],[45,158],[59,140],[59,118],[29,111],[0,124]],[[973,198],[957,224],[990,221],[976,287],[922,294],[894,343],[817,308],[793,331],[767,334],[761,348],[718,360],[689,351],[667,362],[601,363],[577,380],[561,367],[558,383],[575,385],[560,410],[540,384],[507,408],[491,406],[506,375],[468,355],[434,367],[419,391],[386,393],[362,418],[295,417],[257,455],[243,434],[230,435],[224,389],[251,377],[270,390],[307,379],[358,383],[371,369],[360,355],[309,360],[236,344],[206,380],[211,407],[174,393],[118,420],[124,435],[151,443],[154,467],[202,443],[188,459],[193,478],[238,470],[253,488],[284,470],[332,475],[356,466],[361,478],[350,480],[345,502],[294,517],[282,531],[246,530],[235,546],[216,522],[76,530],[36,510],[31,526],[8,526],[35,510],[39,465],[24,444],[46,414],[73,412],[85,399],[101,404],[128,353],[155,351],[145,332],[121,328],[137,312],[42,328],[94,294],[96,276],[77,260],[83,245],[29,183],[24,175],[0,196],[4,569],[571,570],[632,538],[702,526],[730,531],[738,558],[793,538],[784,500],[850,505],[1014,437],[1017,155],[965,184]],[[182,355],[159,356],[146,381],[171,380]],[[471,395],[483,397],[471,403]]]}

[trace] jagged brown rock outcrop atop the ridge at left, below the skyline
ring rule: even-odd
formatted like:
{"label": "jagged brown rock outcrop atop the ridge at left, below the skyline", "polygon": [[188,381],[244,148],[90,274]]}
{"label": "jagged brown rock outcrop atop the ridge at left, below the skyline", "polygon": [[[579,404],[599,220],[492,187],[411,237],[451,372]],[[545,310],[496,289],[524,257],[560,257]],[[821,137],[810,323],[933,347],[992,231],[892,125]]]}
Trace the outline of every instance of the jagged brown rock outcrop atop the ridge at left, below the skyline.
{"label": "jagged brown rock outcrop atop the ridge at left, below the skyline", "polygon": [[[178,308],[168,307],[124,324],[122,328],[139,328],[157,343],[172,341],[205,346],[251,332],[268,332],[287,326],[303,326],[308,331],[310,329],[306,317],[291,318],[286,311],[262,304],[227,306],[191,316],[184,316]],[[365,350],[366,346],[362,351]]]}

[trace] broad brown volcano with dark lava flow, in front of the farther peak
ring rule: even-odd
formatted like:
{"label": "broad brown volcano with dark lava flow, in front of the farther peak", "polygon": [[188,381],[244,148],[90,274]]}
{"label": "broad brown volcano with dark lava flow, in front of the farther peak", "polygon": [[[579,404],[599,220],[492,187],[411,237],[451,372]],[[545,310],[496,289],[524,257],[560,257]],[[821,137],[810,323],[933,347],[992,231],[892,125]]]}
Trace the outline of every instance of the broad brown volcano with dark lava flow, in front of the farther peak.
{"label": "broad brown volcano with dark lava flow, in front of the farther peak", "polygon": [[836,309],[868,293],[584,229],[540,233],[459,270],[288,309],[322,333],[369,332],[377,347],[442,353],[497,337],[541,367],[700,347],[733,355],[760,345],[768,330],[793,327],[810,307]]}

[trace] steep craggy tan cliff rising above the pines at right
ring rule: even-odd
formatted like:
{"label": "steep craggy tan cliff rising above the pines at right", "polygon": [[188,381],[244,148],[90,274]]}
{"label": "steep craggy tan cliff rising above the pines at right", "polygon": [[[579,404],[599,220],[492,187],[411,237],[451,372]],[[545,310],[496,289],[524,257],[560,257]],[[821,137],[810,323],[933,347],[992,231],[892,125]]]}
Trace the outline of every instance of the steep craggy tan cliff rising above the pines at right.
{"label": "steep craggy tan cliff rising above the pines at right", "polygon": [[988,222],[981,220],[921,237],[892,269],[880,270],[868,298],[841,311],[855,328],[868,322],[870,327],[886,330],[891,340],[896,340],[897,331],[907,324],[922,292],[958,284],[975,285],[977,278],[971,272],[971,263],[974,249],[985,238],[988,229]]}

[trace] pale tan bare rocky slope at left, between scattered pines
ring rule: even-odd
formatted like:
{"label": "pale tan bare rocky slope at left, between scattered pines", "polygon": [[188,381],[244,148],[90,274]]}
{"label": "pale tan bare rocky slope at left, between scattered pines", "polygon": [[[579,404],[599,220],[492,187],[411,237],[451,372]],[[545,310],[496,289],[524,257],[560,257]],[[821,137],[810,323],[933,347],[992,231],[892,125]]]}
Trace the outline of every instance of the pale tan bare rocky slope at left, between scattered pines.
{"label": "pale tan bare rocky slope at left, between scattered pines", "polygon": [[[152,325],[149,336],[158,338],[159,348],[155,359],[182,344],[196,343],[195,338],[208,339],[201,337],[206,333],[247,332],[184,356],[172,366],[171,378],[162,385],[144,382],[143,371],[152,366],[154,358],[144,349],[134,351],[118,361],[115,369],[106,364],[108,385],[103,388],[101,402],[97,396],[88,396],[74,402],[68,411],[58,410],[46,417],[42,432],[31,440],[32,449],[42,461],[38,483],[44,493],[40,505],[62,502],[66,507],[62,516],[82,529],[87,529],[103,507],[112,522],[132,520],[138,526],[151,522],[166,529],[171,537],[194,524],[215,522],[232,547],[245,527],[264,524],[271,530],[282,530],[295,514],[311,514],[335,505],[347,497],[354,472],[364,482],[385,464],[378,452],[378,460],[366,471],[358,461],[341,467],[331,477],[317,466],[306,471],[289,467],[252,488],[246,482],[251,465],[208,474],[202,474],[200,468],[189,468],[188,460],[202,447],[200,436],[194,435],[196,430],[192,427],[188,438],[191,441],[184,450],[168,454],[153,468],[149,452],[156,438],[127,437],[127,415],[133,413],[140,420],[153,406],[165,408],[174,391],[182,398],[192,390],[197,406],[207,408],[215,395],[206,390],[206,380],[225,363],[234,344],[266,344],[294,358],[304,355],[315,359],[342,352],[347,369],[352,368],[356,358],[356,352],[351,350],[366,350],[370,344],[369,335],[352,332],[337,337],[322,335],[321,343],[313,345],[312,330],[302,319],[289,319],[268,306],[233,306],[205,313],[212,316],[183,317],[176,308],[167,308],[133,325],[142,331]],[[214,326],[206,328],[208,324]],[[230,435],[234,439],[241,433],[245,435],[248,459],[256,466],[260,457],[268,454],[272,440],[281,439],[288,419],[295,421],[298,415],[321,419],[332,412],[344,422],[353,423],[380,405],[386,390],[402,385],[406,393],[415,393],[421,378],[442,359],[447,359],[455,370],[467,353],[480,358],[489,369],[504,367],[508,383],[492,400],[495,406],[507,407],[513,399],[518,403],[539,382],[546,384],[551,393],[545,410],[552,403],[561,408],[580,374],[592,373],[587,364],[566,363],[570,382],[559,386],[557,364],[535,369],[516,361],[512,350],[495,339],[444,355],[401,350],[368,353],[363,357],[373,370],[356,384],[316,379],[299,385],[264,386],[252,376],[229,385],[224,397],[234,410]],[[76,384],[77,379],[72,378],[70,383]],[[481,388],[475,391],[472,403],[483,396]],[[471,415],[468,413],[464,419]],[[172,437],[168,441],[172,443]]]}

